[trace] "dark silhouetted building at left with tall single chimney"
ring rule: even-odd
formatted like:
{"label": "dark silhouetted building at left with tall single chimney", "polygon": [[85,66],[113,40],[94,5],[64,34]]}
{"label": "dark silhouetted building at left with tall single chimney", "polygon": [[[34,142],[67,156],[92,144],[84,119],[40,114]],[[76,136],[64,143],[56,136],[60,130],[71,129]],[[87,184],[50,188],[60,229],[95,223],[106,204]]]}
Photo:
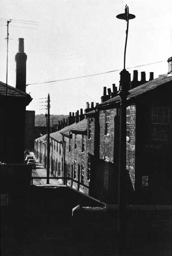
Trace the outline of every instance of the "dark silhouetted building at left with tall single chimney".
{"label": "dark silhouetted building at left with tall single chimney", "polygon": [[0,82],[0,161],[23,163],[26,106],[32,98],[26,93],[26,53],[19,38],[16,54],[16,88]]}

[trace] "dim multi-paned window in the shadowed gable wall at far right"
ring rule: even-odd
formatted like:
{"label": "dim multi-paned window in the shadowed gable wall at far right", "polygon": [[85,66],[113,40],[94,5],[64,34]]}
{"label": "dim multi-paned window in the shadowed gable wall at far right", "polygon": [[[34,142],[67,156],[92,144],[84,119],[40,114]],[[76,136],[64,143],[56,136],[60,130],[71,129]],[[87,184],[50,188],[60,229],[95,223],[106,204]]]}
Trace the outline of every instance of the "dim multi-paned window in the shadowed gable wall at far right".
{"label": "dim multi-paned window in the shadowed gable wall at far right", "polygon": [[153,107],[151,113],[152,140],[169,140],[169,108]]}

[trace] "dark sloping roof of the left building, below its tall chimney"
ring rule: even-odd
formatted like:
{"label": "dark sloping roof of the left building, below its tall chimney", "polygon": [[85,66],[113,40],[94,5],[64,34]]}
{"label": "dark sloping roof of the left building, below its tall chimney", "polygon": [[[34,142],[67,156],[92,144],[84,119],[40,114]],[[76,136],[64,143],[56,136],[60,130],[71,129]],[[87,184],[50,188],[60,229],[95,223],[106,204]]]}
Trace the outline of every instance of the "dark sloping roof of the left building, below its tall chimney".
{"label": "dark sloping roof of the left building, below its tall chimney", "polygon": [[[0,81],[0,95],[6,96],[6,84]],[[29,97],[31,96],[28,93],[25,93],[13,86],[7,84],[7,95],[8,96],[15,96],[15,97]]]}

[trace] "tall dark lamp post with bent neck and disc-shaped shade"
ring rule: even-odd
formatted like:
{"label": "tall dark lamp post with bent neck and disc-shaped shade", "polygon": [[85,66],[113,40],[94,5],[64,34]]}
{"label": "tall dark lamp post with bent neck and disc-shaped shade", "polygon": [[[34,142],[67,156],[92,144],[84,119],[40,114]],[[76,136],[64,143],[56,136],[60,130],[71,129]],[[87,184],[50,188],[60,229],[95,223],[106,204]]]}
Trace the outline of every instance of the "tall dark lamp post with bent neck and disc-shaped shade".
{"label": "tall dark lamp post with bent neck and disc-shaped shade", "polygon": [[129,19],[134,19],[135,15],[129,14],[128,6],[125,6],[125,13],[116,16],[118,19],[127,21],[124,65],[120,72],[119,93],[120,102],[120,123],[119,123],[119,187],[118,187],[118,232],[119,232],[119,253],[126,247],[126,103],[129,94],[130,74],[125,69],[126,47],[128,39]]}

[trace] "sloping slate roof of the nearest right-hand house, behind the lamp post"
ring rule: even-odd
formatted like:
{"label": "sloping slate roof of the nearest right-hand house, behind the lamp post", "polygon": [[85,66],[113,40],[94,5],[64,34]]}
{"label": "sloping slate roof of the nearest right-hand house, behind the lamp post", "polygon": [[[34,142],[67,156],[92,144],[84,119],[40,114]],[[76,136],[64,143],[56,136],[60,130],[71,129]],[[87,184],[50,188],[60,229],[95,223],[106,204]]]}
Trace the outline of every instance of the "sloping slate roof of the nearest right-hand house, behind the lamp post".
{"label": "sloping slate roof of the nearest right-hand house, behind the lamp post", "polygon": [[[147,93],[151,90],[154,90],[155,88],[159,87],[159,86],[163,86],[163,84],[166,84],[168,82],[172,82],[172,76],[160,76],[156,79],[153,79],[145,84],[141,84],[139,86],[137,86],[136,88],[133,88],[131,90],[129,90],[129,95],[127,97],[127,99],[132,99],[135,97],[138,97],[144,93]],[[102,107],[111,103],[117,103],[120,102],[120,97],[116,96],[114,98],[110,98],[108,100],[106,100],[105,102],[100,103],[97,107]]]}

